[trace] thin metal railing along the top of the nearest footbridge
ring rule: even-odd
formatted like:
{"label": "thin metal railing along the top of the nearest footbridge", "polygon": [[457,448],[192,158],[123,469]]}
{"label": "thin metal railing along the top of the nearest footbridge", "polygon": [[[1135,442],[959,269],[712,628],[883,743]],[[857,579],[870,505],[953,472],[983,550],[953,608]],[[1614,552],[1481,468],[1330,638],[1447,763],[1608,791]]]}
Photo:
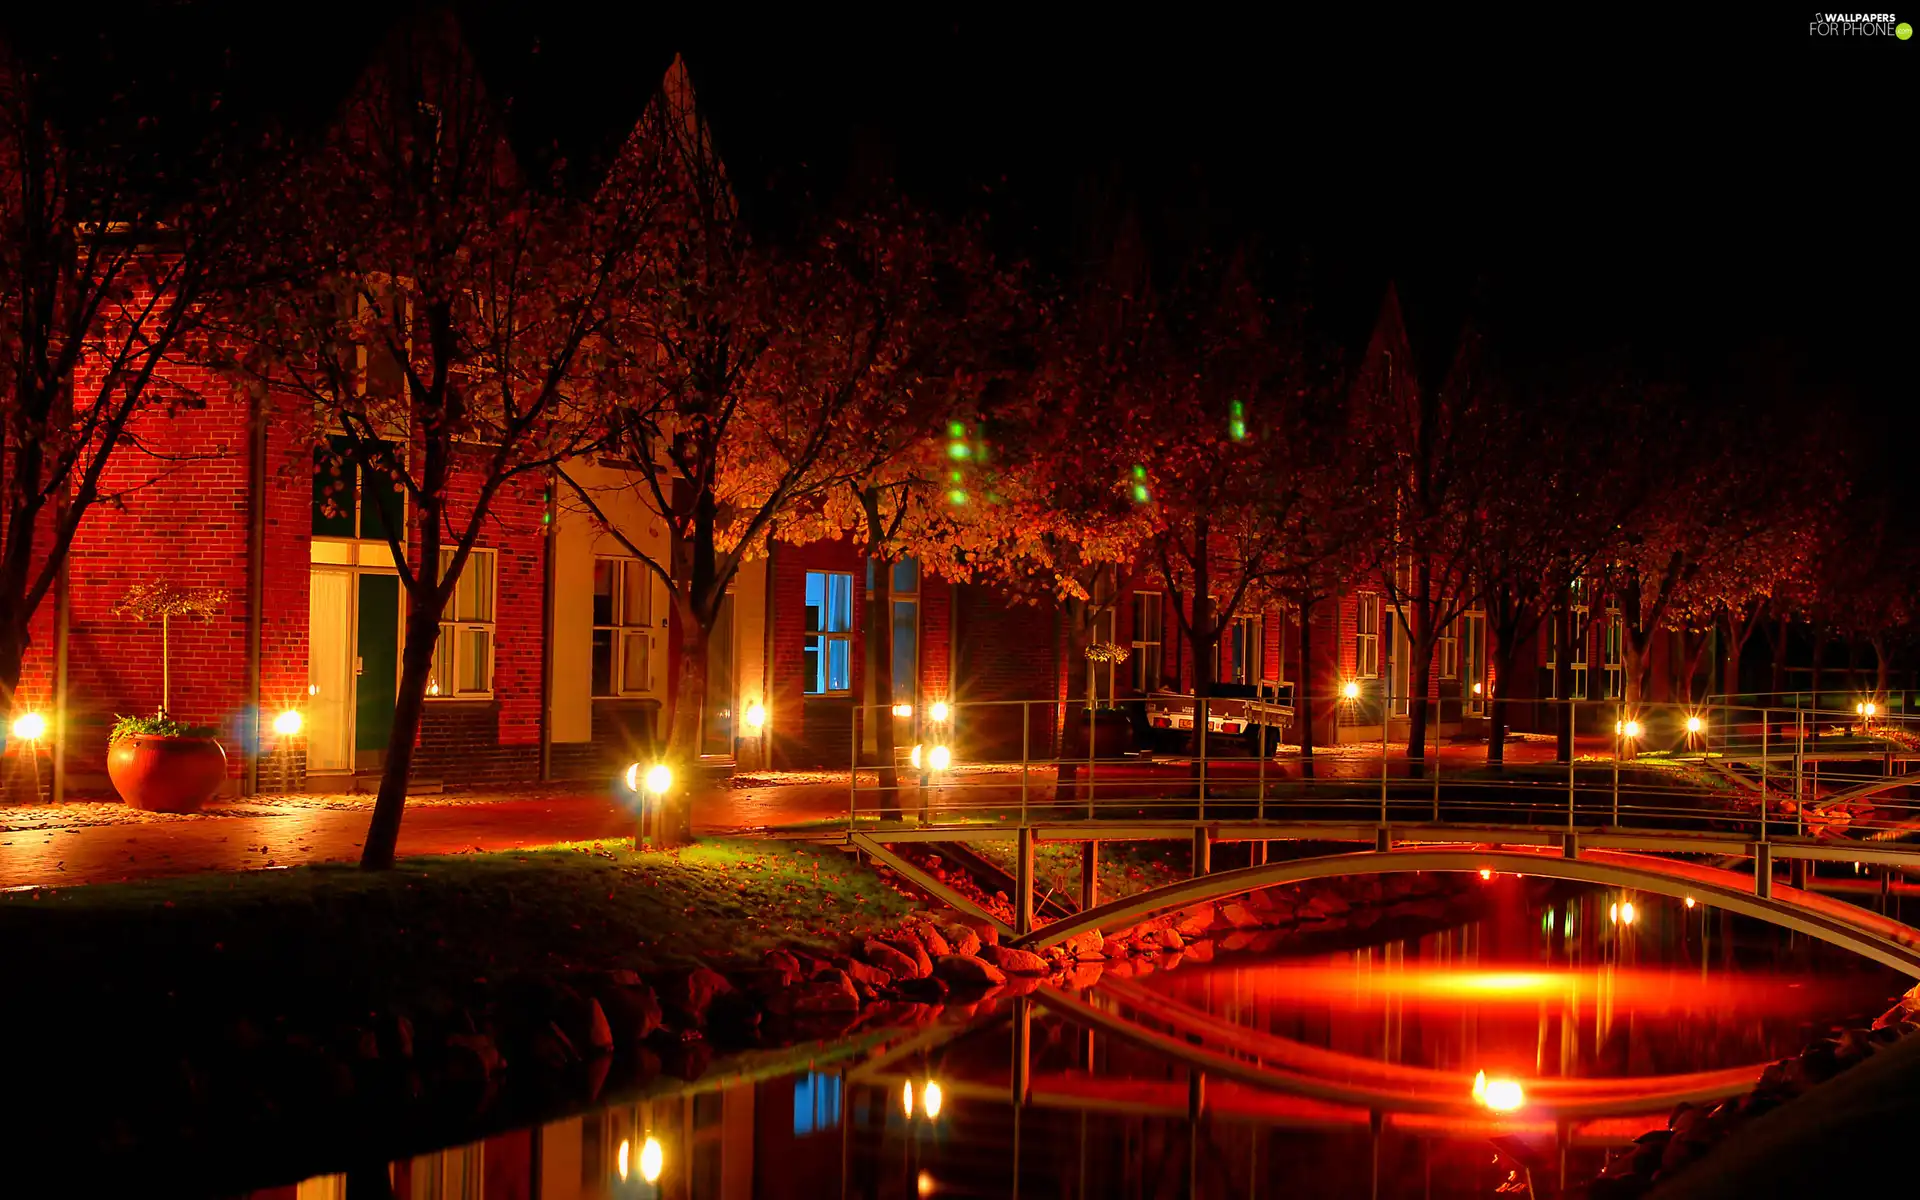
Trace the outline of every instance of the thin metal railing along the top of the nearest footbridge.
{"label": "thin metal railing along the top of the nearest footbridge", "polygon": [[[1356,687],[1286,699],[1277,726],[1252,728],[1238,699],[1196,701],[1188,728],[1154,724],[1167,714],[1139,699],[856,707],[843,758],[847,828],[1177,818],[1651,828],[1761,841],[1920,831],[1920,718],[1887,716],[1866,697],[1851,712],[1509,701],[1507,720],[1521,728],[1500,756],[1490,705],[1430,701],[1427,735],[1409,747],[1404,701]],[[1309,710],[1311,753],[1302,745]]]}

